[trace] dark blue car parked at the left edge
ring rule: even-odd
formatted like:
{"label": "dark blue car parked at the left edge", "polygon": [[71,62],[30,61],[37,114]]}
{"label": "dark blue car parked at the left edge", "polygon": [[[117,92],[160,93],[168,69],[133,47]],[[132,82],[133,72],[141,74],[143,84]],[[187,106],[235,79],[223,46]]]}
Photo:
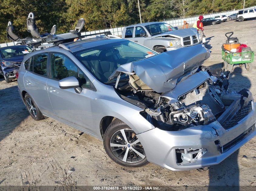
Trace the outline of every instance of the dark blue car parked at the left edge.
{"label": "dark blue car parked at the left edge", "polygon": [[19,69],[23,57],[30,52],[31,49],[25,45],[0,48],[0,75],[4,76],[7,83],[15,80],[15,71]]}

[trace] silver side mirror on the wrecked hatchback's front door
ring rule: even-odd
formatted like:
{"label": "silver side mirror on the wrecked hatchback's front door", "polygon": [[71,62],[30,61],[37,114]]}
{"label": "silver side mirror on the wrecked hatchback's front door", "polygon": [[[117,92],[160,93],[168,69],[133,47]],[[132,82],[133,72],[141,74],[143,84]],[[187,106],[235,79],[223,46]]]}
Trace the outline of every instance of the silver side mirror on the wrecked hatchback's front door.
{"label": "silver side mirror on the wrecked hatchback's front door", "polygon": [[82,88],[79,86],[79,82],[74,76],[70,76],[70,77],[60,80],[59,87],[61,89],[74,88],[75,92],[78,94],[80,94],[82,92]]}

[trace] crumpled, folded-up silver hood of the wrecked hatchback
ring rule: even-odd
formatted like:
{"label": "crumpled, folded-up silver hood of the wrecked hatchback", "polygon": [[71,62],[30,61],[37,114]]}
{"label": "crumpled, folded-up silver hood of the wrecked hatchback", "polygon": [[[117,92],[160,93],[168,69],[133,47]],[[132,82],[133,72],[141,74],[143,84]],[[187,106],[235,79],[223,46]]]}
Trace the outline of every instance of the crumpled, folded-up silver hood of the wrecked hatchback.
{"label": "crumpled, folded-up silver hood of the wrecked hatchback", "polygon": [[175,88],[178,78],[198,68],[209,57],[210,51],[197,44],[123,64],[108,79],[117,78],[120,73],[137,75],[149,88],[161,93]]}

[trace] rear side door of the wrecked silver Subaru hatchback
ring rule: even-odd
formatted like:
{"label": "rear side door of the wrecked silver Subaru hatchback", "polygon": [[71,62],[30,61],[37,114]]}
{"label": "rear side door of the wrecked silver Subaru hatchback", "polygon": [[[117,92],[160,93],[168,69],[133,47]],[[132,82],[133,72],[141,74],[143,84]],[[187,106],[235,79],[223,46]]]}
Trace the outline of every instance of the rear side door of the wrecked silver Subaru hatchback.
{"label": "rear side door of the wrecked silver Subaru hatchback", "polygon": [[52,105],[48,96],[48,53],[32,56],[27,72],[23,79],[25,88],[35,100],[41,112],[53,114]]}

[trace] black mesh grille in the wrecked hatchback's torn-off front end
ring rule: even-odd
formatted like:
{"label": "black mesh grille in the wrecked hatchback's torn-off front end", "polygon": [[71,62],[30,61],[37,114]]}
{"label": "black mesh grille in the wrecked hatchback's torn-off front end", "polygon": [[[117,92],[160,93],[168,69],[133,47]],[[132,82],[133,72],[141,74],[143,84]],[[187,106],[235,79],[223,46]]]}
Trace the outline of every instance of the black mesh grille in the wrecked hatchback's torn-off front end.
{"label": "black mesh grille in the wrecked hatchback's torn-off front end", "polygon": [[224,127],[224,129],[229,129],[235,125],[238,124],[238,121],[240,121],[241,119],[243,119],[245,116],[247,116],[252,110],[252,106],[251,106],[251,101],[248,103],[248,105],[244,108],[242,108],[241,110],[239,110],[236,115],[228,120],[228,121],[224,121],[221,125]]}

